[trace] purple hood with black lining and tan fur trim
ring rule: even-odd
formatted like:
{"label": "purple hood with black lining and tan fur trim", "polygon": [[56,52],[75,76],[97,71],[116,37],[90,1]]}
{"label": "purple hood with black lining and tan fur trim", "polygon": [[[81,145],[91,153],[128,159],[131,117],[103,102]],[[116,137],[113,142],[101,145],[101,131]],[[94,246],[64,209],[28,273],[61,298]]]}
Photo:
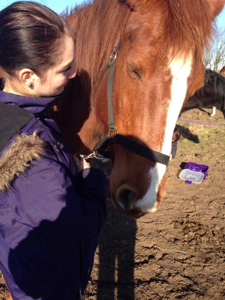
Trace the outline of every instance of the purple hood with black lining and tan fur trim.
{"label": "purple hood with black lining and tan fur trim", "polygon": [[44,155],[44,140],[37,135],[39,128],[29,134],[18,132],[61,96],[27,97],[3,92],[3,88],[0,78],[0,192],[7,190],[32,160]]}

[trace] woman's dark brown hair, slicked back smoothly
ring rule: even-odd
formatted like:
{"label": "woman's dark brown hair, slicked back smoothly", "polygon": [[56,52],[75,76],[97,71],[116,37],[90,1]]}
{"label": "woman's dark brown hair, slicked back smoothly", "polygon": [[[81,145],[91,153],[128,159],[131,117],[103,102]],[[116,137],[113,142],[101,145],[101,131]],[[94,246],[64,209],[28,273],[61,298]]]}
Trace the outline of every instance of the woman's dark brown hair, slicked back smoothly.
{"label": "woman's dark brown hair, slicked back smoothly", "polygon": [[62,50],[68,23],[51,9],[32,1],[14,2],[0,11],[0,69],[29,68],[43,76]]}

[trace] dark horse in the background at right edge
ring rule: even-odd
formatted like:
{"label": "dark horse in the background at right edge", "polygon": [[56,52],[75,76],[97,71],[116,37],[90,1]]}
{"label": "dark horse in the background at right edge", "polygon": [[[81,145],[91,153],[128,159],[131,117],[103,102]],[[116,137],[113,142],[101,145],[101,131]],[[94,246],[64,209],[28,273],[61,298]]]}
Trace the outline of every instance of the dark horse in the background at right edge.
{"label": "dark horse in the background at right edge", "polygon": [[192,108],[212,107],[219,109],[225,118],[225,77],[206,69],[204,86],[188,99],[185,107],[181,110],[181,114]]}

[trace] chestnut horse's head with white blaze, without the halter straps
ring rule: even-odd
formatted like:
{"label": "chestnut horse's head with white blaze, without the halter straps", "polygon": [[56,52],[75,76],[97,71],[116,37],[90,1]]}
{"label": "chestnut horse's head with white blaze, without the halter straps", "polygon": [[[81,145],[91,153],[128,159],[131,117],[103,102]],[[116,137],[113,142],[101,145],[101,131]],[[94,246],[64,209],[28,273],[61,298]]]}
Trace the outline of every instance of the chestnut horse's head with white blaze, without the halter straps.
{"label": "chestnut horse's head with white blaze, without the halter straps", "polygon": [[[203,85],[203,48],[224,0],[122,2],[131,13],[115,64],[115,123],[121,135],[169,155],[179,112]],[[106,94],[106,78],[98,101]],[[105,110],[99,118],[107,126]],[[133,218],[154,212],[165,195],[166,166],[120,145],[110,147],[115,207]]]}

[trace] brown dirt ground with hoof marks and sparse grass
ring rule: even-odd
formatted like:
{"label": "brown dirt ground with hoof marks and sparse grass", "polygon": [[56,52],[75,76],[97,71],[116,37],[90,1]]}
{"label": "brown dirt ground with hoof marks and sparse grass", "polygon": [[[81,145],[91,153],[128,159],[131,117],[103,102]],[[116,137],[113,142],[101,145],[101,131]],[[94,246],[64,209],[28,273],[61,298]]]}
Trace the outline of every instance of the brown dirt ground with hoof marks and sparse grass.
{"label": "brown dirt ground with hoof marks and sparse grass", "polygon": [[[196,109],[182,118],[225,122],[219,111],[211,118],[207,112]],[[108,201],[108,221],[84,299],[225,299],[225,126],[178,122],[178,128],[182,138],[158,211],[135,221]],[[200,185],[177,177],[188,161],[209,166]],[[0,300],[6,294],[0,282]]]}

